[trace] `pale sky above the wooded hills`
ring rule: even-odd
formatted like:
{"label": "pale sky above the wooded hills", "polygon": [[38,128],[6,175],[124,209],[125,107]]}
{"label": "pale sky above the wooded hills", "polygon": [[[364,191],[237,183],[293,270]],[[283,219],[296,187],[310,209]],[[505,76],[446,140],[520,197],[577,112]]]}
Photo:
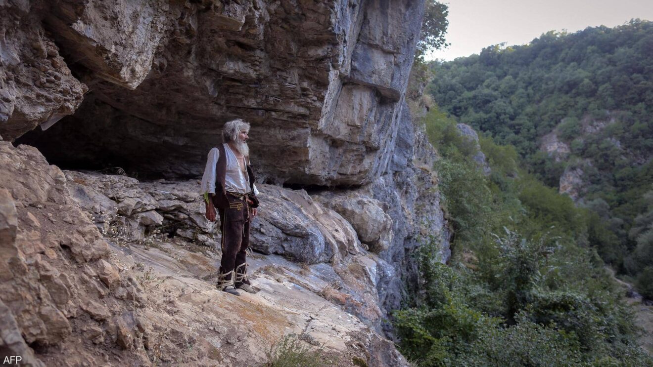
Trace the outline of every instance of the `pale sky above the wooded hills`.
{"label": "pale sky above the wooded hills", "polygon": [[449,5],[447,43],[426,59],[453,60],[492,44],[527,44],[551,30],[653,21],[653,0],[440,0]]}

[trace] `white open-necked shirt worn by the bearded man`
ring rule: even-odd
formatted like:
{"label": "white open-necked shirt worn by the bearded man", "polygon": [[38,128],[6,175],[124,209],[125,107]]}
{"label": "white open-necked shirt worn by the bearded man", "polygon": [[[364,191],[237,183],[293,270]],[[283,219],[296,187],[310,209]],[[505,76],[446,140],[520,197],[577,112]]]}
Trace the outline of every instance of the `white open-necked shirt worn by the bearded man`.
{"label": "white open-necked shirt worn by the bearded man", "polygon": [[[225,172],[225,190],[231,192],[238,192],[240,194],[247,194],[251,191],[249,188],[249,175],[243,172],[238,164],[236,154],[231,150],[229,144],[224,143],[225,154],[227,155],[227,171]],[[204,175],[202,175],[202,194],[215,194],[215,164],[220,158],[220,151],[217,148],[212,148],[206,157],[206,167],[204,168]],[[258,195],[259,190],[254,184],[254,195]]]}

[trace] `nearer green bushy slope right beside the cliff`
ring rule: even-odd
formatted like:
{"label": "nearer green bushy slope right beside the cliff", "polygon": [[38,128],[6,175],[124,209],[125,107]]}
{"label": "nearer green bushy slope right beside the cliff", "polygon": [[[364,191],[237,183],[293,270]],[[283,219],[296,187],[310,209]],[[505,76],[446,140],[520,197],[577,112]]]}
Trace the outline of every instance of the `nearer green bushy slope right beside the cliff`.
{"label": "nearer green bushy slope right beside the cliff", "polygon": [[623,291],[586,246],[590,211],[520,169],[513,146],[481,138],[485,175],[456,121],[436,106],[422,121],[455,235],[448,266],[437,233],[417,253],[419,282],[394,314],[402,353],[425,367],[653,365]]}

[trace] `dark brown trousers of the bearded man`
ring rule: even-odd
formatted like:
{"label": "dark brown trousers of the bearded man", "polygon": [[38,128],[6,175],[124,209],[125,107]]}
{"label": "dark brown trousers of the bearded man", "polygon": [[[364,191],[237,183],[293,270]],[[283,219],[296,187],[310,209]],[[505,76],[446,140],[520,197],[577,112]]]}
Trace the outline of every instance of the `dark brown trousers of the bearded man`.
{"label": "dark brown trousers of the bearded man", "polygon": [[[247,196],[227,192],[229,199],[228,209],[218,209],[222,240],[222,259],[220,261],[220,274],[236,270],[236,274],[244,274],[246,267],[246,251],[249,247],[249,224],[251,222],[251,209],[247,205]],[[231,279],[231,274],[230,277]]]}

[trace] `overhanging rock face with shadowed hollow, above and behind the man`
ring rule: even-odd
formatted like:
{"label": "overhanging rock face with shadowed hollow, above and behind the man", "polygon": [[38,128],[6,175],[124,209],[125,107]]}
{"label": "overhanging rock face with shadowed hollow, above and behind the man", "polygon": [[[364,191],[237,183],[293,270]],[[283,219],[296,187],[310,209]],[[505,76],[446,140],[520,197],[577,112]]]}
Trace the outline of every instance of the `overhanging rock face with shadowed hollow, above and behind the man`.
{"label": "overhanging rock face with shadowed hollow, above and behind the man", "polygon": [[[35,4],[5,27],[47,30],[91,85],[74,116],[23,139],[50,160],[197,176],[223,123],[242,117],[262,181],[360,185],[387,168],[422,1]],[[5,115],[5,139],[47,120],[20,129]]]}

